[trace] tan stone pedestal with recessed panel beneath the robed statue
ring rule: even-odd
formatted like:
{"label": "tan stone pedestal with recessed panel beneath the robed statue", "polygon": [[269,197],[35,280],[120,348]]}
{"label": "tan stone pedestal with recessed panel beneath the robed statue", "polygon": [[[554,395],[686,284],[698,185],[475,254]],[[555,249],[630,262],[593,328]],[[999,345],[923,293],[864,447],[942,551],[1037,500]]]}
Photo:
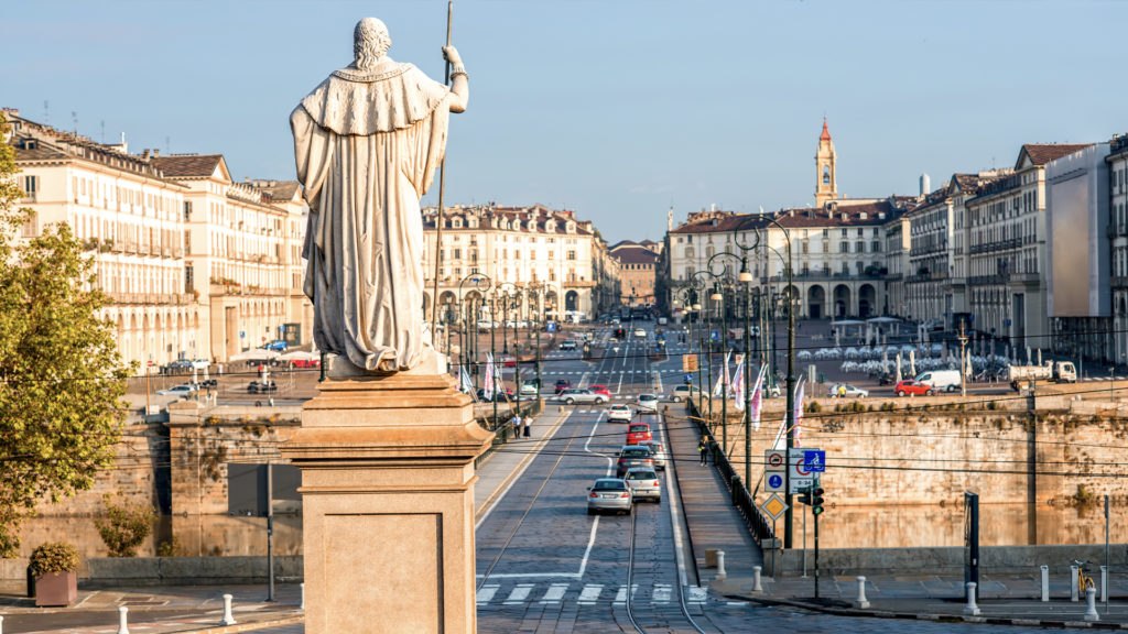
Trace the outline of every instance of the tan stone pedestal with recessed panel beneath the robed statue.
{"label": "tan stone pedestal with recessed panel beneath the robed statue", "polygon": [[442,375],[321,384],[282,448],[301,469],[308,634],[476,629],[474,458],[491,438]]}

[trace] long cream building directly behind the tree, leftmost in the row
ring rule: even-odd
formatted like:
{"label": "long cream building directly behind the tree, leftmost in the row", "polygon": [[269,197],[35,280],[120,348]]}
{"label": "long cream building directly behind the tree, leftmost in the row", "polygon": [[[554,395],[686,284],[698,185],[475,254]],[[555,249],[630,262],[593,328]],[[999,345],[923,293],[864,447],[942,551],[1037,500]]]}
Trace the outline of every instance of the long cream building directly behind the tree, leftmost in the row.
{"label": "long cream building directly behind the tree, leftmost in the row", "polygon": [[23,237],[65,222],[94,262],[107,299],[103,317],[117,325],[125,362],[160,366],[206,356],[201,338],[208,307],[185,288],[186,186],[165,175],[150,153],[133,156],[124,140],[106,146],[5,111],[16,152],[21,204],[35,211]]}

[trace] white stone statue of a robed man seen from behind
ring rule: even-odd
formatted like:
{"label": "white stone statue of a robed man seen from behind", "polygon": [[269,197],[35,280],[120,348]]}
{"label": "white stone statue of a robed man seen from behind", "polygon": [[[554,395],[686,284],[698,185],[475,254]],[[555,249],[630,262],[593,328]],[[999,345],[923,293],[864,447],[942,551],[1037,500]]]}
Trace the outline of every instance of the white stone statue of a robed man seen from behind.
{"label": "white stone statue of a robed man seen from behind", "polygon": [[[387,56],[382,21],[354,32],[355,61],[290,115],[298,179],[309,202],[305,292],[314,341],[343,373],[381,373],[432,354],[423,338],[423,220],[447,147],[448,113],[466,111],[469,83],[453,46],[452,86]],[[354,367],[354,368],[353,368]]]}

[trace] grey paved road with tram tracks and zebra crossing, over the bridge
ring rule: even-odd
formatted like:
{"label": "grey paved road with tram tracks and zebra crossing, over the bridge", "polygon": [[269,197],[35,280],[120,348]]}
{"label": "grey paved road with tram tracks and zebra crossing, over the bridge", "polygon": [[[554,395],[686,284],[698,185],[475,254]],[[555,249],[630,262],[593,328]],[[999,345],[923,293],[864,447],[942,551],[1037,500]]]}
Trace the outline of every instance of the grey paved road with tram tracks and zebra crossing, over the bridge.
{"label": "grey paved road with tram tracks and zebra crossing, over the bridge", "polygon": [[[646,340],[617,344],[607,341],[609,331],[596,331],[605,353],[592,361],[550,353],[546,385],[556,378],[578,387],[603,384],[611,403],[633,402],[641,391],[668,393],[680,377],[681,346],[671,343],[669,360],[652,361],[652,323],[644,325]],[[697,576],[679,512],[677,459],[686,465],[693,457],[671,461],[661,503],[641,502],[632,516],[590,517],[587,487],[614,473],[626,425],[608,423],[605,406],[561,407],[570,411],[567,420],[477,527],[478,632],[1021,631],[835,617],[711,595]],[[643,419],[663,440],[661,415]]]}

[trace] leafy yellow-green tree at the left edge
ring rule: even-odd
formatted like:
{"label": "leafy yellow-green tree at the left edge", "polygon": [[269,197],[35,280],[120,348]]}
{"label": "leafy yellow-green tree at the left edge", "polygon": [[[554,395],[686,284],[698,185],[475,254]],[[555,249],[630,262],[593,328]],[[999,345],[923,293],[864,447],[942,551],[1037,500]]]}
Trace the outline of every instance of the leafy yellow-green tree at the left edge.
{"label": "leafy yellow-green tree at the left edge", "polygon": [[0,114],[0,556],[42,501],[89,490],[113,464],[125,378],[92,263],[65,223],[20,238],[8,123]]}

